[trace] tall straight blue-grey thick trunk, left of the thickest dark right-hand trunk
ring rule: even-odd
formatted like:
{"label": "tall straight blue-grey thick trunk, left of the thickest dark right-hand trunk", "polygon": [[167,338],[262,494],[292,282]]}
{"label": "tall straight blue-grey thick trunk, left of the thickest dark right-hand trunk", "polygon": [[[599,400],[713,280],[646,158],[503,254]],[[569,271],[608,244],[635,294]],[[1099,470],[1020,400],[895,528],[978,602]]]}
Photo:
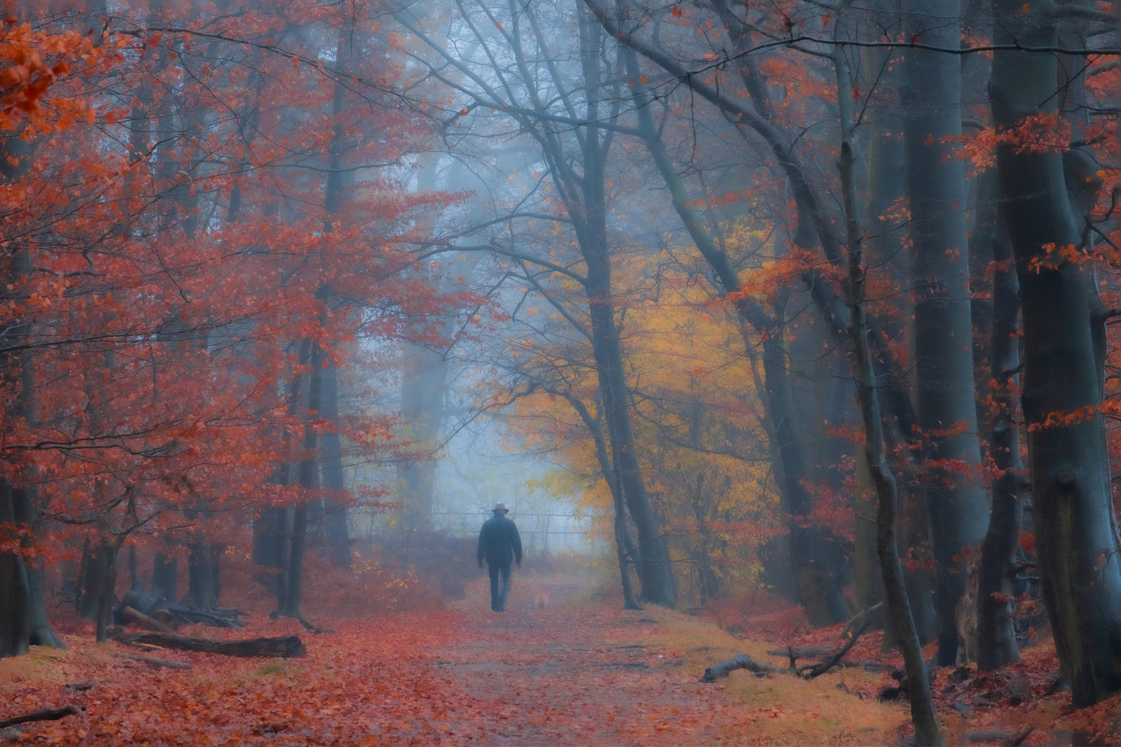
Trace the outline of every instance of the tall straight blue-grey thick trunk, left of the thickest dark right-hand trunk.
{"label": "tall straight blue-grey thick trunk, left of the thickest dark right-hand trunk", "polygon": [[[927,44],[958,46],[958,0],[904,0],[907,34]],[[969,231],[964,162],[954,157],[961,123],[961,60],[924,49],[904,54],[902,106],[914,245],[915,364],[923,466],[928,476],[939,664],[957,655],[955,610],[965,592],[965,551],[989,523],[973,390],[973,327],[969,292]]]}

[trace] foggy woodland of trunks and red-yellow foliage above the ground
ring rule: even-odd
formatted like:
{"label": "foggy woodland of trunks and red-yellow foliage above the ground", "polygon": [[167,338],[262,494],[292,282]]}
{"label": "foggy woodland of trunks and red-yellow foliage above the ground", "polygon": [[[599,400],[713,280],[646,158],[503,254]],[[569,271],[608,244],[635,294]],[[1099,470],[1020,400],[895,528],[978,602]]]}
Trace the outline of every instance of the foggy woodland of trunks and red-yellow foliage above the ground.
{"label": "foggy woodland of trunks and red-yellow foliage above the ground", "polygon": [[122,552],[200,610],[391,609],[518,494],[628,607],[873,610],[921,744],[924,669],[1018,661],[1034,599],[1074,704],[1118,691],[1119,22],[11,6],[0,650],[59,645],[59,585],[103,639]]}

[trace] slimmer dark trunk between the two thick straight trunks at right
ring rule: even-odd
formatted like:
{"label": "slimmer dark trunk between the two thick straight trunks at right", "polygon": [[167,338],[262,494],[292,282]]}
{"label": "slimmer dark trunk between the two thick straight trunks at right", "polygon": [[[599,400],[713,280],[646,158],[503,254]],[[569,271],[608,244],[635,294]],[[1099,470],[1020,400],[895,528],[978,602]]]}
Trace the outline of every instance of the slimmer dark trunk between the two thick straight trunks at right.
{"label": "slimmer dark trunk between the two thick straight trunks at right", "polygon": [[1023,520],[1023,463],[1020,460],[1020,429],[1017,426],[1017,389],[1020,367],[1020,300],[1012,246],[1000,228],[993,237],[992,292],[992,508],[989,531],[981,542],[978,577],[978,669],[993,671],[1020,661],[1012,627],[1012,597],[1016,596],[1016,551]]}

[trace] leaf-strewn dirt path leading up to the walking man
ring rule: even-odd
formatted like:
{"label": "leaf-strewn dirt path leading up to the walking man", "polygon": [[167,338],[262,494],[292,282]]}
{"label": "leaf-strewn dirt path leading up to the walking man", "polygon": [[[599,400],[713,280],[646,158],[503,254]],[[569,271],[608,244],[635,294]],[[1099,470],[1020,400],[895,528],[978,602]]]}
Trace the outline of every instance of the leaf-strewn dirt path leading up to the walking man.
{"label": "leaf-strewn dirt path leading up to the walking man", "polygon": [[586,595],[575,583],[516,579],[504,613],[490,610],[482,583],[456,603],[464,629],[433,666],[476,699],[478,737],[498,745],[712,744],[721,694],[673,667],[665,651],[626,643],[655,624],[651,613],[582,604]]}

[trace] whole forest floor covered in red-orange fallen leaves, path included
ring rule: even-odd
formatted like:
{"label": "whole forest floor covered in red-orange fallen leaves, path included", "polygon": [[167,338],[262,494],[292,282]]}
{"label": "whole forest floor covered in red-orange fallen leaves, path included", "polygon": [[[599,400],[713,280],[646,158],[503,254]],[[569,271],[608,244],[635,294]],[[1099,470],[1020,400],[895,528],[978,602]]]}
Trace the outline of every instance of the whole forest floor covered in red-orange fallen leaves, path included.
{"label": "whole forest floor covered in red-orange fallen leaves, path included", "polygon": [[[482,744],[706,745],[907,744],[906,702],[877,695],[897,684],[860,667],[813,681],[733,672],[703,684],[706,666],[776,646],[836,644],[839,629],[782,634],[756,618],[752,639],[712,622],[648,607],[619,609],[591,583],[519,579],[508,610],[489,609],[485,581],[446,609],[371,619],[317,619],[313,635],[294,620],[250,617],[247,629],[180,629],[210,637],[298,634],[307,655],[288,660],[158,652],[189,670],[123,659],[119,643],[98,645],[89,623],[61,624],[68,651],[34,647],[0,660],[0,720],[74,704],[80,716],[0,731],[16,744]],[[781,622],[781,620],[778,620]],[[742,635],[743,628],[726,625]],[[864,635],[846,659],[892,664],[880,634]],[[1038,650],[1038,651],[1037,651]],[[1037,651],[1037,654],[1031,654]],[[948,744],[1110,744],[1091,723],[1117,728],[1121,699],[1072,712],[1069,693],[1047,693],[1057,663],[1049,646],[1026,652],[1015,671],[935,681]],[[809,660],[807,660],[809,661]],[[1019,673],[1028,699],[1012,707]],[[1015,688],[1012,688],[1015,689]],[[1117,735],[1114,735],[1115,737]],[[1112,741],[1112,744],[1117,744]]]}

